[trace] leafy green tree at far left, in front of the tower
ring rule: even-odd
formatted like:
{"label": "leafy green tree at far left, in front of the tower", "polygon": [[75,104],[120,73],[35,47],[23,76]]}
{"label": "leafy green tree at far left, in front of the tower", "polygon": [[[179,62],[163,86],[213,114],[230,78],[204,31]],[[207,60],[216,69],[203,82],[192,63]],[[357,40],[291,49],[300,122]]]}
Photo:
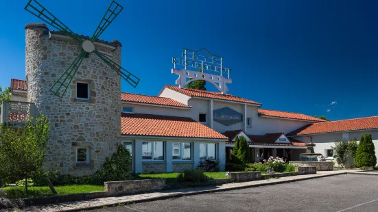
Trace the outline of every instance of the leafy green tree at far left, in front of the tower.
{"label": "leafy green tree at far left, in front of the tower", "polygon": [[0,129],[0,172],[2,181],[25,180],[41,174],[49,140],[49,120],[40,114],[28,118],[24,127],[4,126]]}

